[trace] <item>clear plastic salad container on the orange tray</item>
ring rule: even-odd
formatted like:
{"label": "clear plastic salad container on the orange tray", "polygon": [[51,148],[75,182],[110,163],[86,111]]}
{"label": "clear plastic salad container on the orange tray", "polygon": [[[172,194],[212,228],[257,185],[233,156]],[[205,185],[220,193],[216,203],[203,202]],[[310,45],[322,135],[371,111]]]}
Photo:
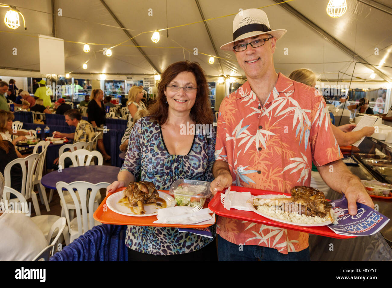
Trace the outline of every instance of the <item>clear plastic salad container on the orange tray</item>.
{"label": "clear plastic salad container on the orange tray", "polygon": [[176,199],[177,206],[196,207],[204,205],[211,196],[210,183],[198,180],[178,179],[170,186],[169,193]]}

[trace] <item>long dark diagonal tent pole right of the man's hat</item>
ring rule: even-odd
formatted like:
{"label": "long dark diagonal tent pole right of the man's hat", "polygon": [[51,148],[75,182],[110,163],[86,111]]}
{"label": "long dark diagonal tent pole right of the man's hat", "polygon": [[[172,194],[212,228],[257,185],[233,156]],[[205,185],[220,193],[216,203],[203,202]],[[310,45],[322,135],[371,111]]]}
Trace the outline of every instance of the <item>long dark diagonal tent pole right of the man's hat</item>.
{"label": "long dark diagonal tent pole right of the man's hat", "polygon": [[[283,0],[274,0],[274,2],[276,3],[280,3],[283,2]],[[351,56],[354,60],[356,60],[357,62],[363,62],[364,64],[367,64],[369,66],[372,66],[372,70],[374,71],[374,73],[376,73],[378,76],[380,76],[381,78],[383,78],[384,80],[391,82],[392,80],[385,75],[382,71],[378,70],[376,67],[374,67],[373,65],[371,65],[369,62],[367,62],[364,58],[362,58],[361,56],[359,56],[357,53],[355,53],[354,51],[352,51],[350,48],[348,48],[346,45],[344,45],[343,43],[339,42],[337,39],[335,39],[332,35],[328,34],[326,31],[324,31],[323,29],[321,29],[321,27],[319,27],[318,25],[316,25],[314,22],[310,21],[307,17],[305,17],[303,14],[299,13],[296,9],[294,9],[293,7],[291,7],[289,4],[287,3],[282,3],[279,6],[281,6],[282,8],[286,9],[287,11],[289,11],[291,14],[293,14],[294,16],[296,16],[299,20],[301,20],[303,23],[307,24],[310,28],[312,28],[314,31],[316,31],[317,33],[321,34],[321,36],[323,36],[325,39],[327,39],[328,41],[330,41],[332,44],[338,46],[342,51],[344,51],[345,53],[347,53],[349,56]]]}

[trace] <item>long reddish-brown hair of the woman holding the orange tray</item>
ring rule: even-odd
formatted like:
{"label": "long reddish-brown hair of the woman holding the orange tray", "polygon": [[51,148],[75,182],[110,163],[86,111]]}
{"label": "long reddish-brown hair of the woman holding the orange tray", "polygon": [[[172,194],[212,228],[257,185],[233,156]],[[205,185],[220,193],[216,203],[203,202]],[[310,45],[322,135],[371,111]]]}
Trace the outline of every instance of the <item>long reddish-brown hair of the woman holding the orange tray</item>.
{"label": "long reddish-brown hair of the woman holding the orange tray", "polygon": [[181,72],[192,72],[196,78],[197,94],[195,103],[191,109],[191,120],[197,124],[211,124],[213,121],[211,103],[208,98],[208,84],[203,69],[199,63],[180,61],[169,65],[161,75],[158,83],[158,96],[154,104],[149,107],[151,120],[159,125],[167,121],[169,105],[166,103],[165,90],[167,85]]}

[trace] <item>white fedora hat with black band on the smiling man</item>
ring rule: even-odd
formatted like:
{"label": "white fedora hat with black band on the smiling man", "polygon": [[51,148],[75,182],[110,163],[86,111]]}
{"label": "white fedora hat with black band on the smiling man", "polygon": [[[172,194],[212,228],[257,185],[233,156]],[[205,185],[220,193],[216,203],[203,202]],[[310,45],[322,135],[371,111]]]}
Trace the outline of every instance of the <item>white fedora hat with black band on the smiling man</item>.
{"label": "white fedora hat with black band on the smiling man", "polygon": [[238,13],[233,21],[233,41],[222,45],[220,49],[233,51],[234,42],[260,34],[271,34],[279,40],[287,30],[271,30],[267,14],[260,9],[246,9]]}

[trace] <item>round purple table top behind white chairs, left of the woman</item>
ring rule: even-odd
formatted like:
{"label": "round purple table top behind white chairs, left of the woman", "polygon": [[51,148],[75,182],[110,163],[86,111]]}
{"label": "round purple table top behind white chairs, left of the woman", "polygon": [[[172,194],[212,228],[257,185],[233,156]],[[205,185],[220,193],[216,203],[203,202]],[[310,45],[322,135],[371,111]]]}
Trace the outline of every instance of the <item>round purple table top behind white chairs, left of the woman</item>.
{"label": "round purple table top behind white chairs, left of the woman", "polygon": [[56,190],[56,183],[63,181],[71,183],[74,181],[86,181],[97,184],[100,182],[113,183],[117,180],[120,167],[107,165],[79,166],[62,169],[62,172],[54,170],[42,176],[41,183],[46,188]]}

